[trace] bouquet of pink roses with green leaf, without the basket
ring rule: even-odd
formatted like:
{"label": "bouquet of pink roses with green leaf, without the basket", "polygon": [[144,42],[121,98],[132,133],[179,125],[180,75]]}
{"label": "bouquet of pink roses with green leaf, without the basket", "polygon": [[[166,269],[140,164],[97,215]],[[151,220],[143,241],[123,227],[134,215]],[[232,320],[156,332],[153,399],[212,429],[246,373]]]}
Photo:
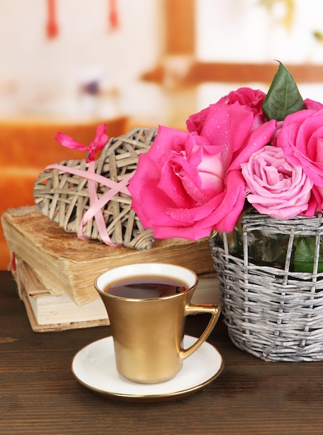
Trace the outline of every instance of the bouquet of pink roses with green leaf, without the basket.
{"label": "bouquet of pink roses with green leaf, without the basket", "polygon": [[267,95],[239,88],[186,125],[159,126],[129,183],[156,238],[231,232],[246,206],[279,220],[322,213],[323,104],[304,100],[281,63]]}

